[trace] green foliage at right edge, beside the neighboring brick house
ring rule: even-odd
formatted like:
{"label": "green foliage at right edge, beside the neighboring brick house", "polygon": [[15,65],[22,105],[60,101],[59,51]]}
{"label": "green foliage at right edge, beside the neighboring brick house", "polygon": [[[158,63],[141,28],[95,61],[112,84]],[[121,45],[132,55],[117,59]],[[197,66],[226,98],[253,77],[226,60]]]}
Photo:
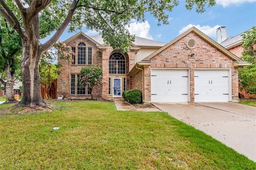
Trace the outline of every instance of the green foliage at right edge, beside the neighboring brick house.
{"label": "green foliage at right edge, beside the neighboring brick house", "polygon": [[243,33],[242,58],[251,65],[239,68],[239,86],[249,94],[256,94],[256,27]]}

